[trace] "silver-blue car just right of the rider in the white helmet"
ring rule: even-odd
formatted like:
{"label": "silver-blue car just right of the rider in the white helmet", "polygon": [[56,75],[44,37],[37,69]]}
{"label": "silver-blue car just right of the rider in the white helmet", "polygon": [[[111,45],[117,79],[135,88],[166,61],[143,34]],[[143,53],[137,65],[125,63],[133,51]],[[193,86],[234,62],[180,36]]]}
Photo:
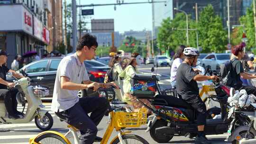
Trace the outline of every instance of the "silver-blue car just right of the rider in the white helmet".
{"label": "silver-blue car just right of the rider in the white helmet", "polygon": [[201,66],[203,68],[206,67],[206,65],[210,65],[212,70],[219,70],[219,65],[221,63],[224,63],[226,61],[229,61],[230,54],[208,54],[205,58],[201,59]]}

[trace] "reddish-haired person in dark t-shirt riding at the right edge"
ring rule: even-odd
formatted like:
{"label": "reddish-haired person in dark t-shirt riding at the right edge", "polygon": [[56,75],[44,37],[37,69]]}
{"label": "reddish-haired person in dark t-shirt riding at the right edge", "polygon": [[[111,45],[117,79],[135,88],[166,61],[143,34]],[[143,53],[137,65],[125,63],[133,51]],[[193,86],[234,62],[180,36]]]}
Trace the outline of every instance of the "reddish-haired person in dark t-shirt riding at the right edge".
{"label": "reddish-haired person in dark t-shirt riding at the right edge", "polygon": [[246,90],[247,94],[254,94],[256,96],[256,88],[253,86],[243,86],[243,82],[241,81],[240,77],[242,79],[255,79],[256,76],[250,73],[247,73],[243,69],[243,64],[241,60],[245,56],[244,47],[243,45],[236,45],[232,49],[232,54],[235,55],[235,58],[232,60],[231,64],[231,70],[230,70],[230,78],[231,81],[228,86],[234,88],[235,90]]}

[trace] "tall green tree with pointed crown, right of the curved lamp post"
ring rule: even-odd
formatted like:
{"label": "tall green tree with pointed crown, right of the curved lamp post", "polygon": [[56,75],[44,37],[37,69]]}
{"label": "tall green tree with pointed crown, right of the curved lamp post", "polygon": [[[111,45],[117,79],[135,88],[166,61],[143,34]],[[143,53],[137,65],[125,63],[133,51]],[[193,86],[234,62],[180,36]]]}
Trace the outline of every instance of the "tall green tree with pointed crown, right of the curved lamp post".
{"label": "tall green tree with pointed crown, right of the curved lamp post", "polygon": [[214,14],[212,5],[205,7],[199,14],[199,45],[203,53],[221,53],[226,50],[227,32],[223,29],[221,19]]}

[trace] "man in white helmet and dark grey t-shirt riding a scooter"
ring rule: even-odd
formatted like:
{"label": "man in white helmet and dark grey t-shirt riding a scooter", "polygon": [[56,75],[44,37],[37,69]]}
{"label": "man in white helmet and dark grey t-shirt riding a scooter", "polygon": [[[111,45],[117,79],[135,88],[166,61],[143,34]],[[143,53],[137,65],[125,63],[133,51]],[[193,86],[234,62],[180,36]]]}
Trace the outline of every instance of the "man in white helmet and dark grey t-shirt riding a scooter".
{"label": "man in white helmet and dark grey t-shirt riding a scooter", "polygon": [[200,75],[192,69],[197,63],[199,51],[193,47],[186,47],[183,51],[185,60],[177,70],[177,93],[184,101],[197,110],[198,135],[196,144],[211,144],[205,137],[204,126],[206,124],[206,106],[199,96],[199,88],[196,81],[206,81],[219,79],[217,76]]}

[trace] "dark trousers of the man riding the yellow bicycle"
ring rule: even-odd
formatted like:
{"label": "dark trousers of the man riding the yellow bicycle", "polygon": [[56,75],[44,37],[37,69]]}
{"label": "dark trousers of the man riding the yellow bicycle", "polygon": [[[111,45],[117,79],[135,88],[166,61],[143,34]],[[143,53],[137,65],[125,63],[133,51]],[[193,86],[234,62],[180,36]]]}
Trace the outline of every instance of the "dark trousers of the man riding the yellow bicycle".
{"label": "dark trousers of the man riding the yellow bicycle", "polygon": [[[66,118],[66,122],[81,132],[80,144],[92,144],[98,129],[97,125],[110,108],[110,103],[105,98],[86,97],[80,98],[72,108],[56,113]],[[91,116],[88,116],[91,113]]]}

